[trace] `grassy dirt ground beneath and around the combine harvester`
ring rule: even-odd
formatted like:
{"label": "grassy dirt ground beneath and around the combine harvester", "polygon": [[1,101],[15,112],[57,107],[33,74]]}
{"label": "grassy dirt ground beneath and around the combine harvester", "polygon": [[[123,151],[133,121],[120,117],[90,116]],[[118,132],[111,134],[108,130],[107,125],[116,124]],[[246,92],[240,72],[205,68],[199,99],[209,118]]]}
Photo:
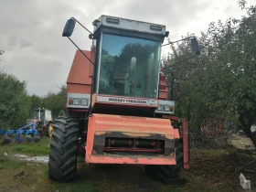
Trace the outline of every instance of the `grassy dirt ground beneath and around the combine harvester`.
{"label": "grassy dirt ground beneath and around the combine harvester", "polygon": [[[79,158],[80,178],[77,181],[68,184],[53,183],[48,180],[47,164],[27,163],[10,158],[16,153],[46,155],[48,144],[49,140],[45,139],[38,144],[0,145],[0,191],[232,192],[241,191],[240,173],[251,180],[252,191],[256,191],[255,150],[192,150],[190,170],[184,170],[180,174],[181,178],[187,180],[185,186],[153,181],[144,175],[144,166],[86,165],[83,157]],[[242,167],[244,165],[247,166]]]}

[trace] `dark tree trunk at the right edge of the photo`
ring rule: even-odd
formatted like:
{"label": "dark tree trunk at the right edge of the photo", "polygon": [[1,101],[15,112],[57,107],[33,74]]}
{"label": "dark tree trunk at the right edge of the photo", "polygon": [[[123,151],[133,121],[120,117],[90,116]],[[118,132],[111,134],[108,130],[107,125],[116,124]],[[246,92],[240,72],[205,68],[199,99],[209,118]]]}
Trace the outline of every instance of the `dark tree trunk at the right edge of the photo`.
{"label": "dark tree trunk at the right edge of the photo", "polygon": [[251,142],[254,144],[254,147],[256,148],[256,135],[254,135],[251,132],[251,125],[253,123],[253,117],[250,116],[245,116],[245,115],[240,115],[240,123],[242,126],[243,132],[251,139]]}

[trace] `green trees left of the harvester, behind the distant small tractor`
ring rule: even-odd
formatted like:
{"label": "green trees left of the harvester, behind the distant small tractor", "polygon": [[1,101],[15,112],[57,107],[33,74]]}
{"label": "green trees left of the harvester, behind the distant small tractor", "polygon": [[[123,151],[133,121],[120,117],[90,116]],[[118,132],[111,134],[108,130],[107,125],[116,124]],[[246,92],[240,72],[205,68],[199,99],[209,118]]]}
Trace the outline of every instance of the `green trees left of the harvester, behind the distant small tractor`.
{"label": "green trees left of the harvester, behind the distant small tractor", "polygon": [[62,86],[60,91],[48,92],[46,97],[27,94],[27,82],[21,81],[12,74],[0,71],[0,128],[17,129],[25,125],[30,113],[36,108],[47,108],[53,117],[59,112],[66,111],[67,88]]}

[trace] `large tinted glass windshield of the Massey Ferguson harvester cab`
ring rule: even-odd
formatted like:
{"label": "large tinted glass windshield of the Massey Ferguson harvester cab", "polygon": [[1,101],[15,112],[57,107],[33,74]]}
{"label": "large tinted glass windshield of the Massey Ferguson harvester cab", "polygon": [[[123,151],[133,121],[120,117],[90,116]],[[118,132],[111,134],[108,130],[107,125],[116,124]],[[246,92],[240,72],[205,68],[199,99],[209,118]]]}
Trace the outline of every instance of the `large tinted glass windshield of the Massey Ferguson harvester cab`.
{"label": "large tinted glass windshield of the Massey Ferguson harvester cab", "polygon": [[99,94],[156,98],[161,43],[103,34]]}

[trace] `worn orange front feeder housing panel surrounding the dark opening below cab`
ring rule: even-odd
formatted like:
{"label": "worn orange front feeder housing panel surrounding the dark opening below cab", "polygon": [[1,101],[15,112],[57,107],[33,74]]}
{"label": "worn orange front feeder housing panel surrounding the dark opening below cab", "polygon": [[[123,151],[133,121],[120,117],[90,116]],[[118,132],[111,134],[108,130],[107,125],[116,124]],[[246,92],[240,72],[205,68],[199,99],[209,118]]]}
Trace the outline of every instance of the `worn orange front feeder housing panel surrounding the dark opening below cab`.
{"label": "worn orange front feeder housing panel surrounding the dark opening below cab", "polygon": [[[111,155],[103,153],[106,137],[165,141],[165,155]],[[176,165],[175,138],[179,133],[167,119],[93,113],[89,118],[86,163]]]}

